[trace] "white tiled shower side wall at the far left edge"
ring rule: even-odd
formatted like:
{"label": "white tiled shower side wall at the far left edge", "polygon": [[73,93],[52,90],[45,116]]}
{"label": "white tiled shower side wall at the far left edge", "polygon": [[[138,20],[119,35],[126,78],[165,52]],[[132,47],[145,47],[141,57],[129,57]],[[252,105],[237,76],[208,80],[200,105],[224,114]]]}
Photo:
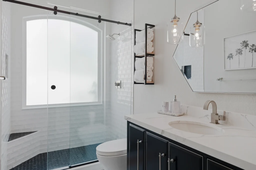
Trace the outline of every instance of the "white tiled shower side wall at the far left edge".
{"label": "white tiled shower side wall at the far left edge", "polygon": [[[10,32],[10,4],[1,2],[1,75],[7,77],[5,71],[6,55],[11,56],[11,32]],[[9,61],[8,61],[9,62]],[[10,64],[10,63],[9,63]],[[9,69],[9,67],[8,67]],[[10,134],[10,71],[8,70],[8,79],[1,80],[1,170],[7,168],[7,141]],[[13,161],[13,160],[12,160]]]}

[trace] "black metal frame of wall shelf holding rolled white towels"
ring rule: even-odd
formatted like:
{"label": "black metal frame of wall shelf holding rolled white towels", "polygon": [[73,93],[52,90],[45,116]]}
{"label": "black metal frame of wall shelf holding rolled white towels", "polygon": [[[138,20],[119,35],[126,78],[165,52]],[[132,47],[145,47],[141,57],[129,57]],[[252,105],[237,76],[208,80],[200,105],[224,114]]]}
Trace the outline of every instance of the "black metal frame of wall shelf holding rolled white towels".
{"label": "black metal frame of wall shelf holding rolled white towels", "polygon": [[[147,29],[148,28],[154,28],[155,25],[151,25],[151,24],[145,24],[145,53],[142,53],[142,54],[135,54],[134,53],[134,72],[135,72],[135,60],[136,58],[143,58],[145,57],[145,82],[135,82],[134,81],[134,84],[145,84],[145,85],[153,85],[154,82],[148,82],[147,81],[147,57],[152,57],[152,56],[155,56],[155,53],[147,53]],[[143,30],[137,30],[137,29],[134,29],[134,45],[136,45],[136,31],[143,31]]]}

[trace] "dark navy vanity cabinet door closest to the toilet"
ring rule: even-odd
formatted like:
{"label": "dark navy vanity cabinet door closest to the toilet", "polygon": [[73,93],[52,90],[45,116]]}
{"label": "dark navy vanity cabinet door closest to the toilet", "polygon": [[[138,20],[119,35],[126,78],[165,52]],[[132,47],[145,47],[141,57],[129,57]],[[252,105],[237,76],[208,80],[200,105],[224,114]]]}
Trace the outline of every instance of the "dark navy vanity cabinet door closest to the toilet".
{"label": "dark navy vanity cabinet door closest to the toilet", "polygon": [[130,170],[145,169],[145,130],[130,124]]}

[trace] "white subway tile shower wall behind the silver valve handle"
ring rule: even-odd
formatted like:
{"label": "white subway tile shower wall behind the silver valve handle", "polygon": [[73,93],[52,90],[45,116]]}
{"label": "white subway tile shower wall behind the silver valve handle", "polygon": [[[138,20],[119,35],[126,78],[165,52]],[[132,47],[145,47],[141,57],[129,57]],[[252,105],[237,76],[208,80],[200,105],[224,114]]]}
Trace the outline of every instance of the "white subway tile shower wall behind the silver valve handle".
{"label": "white subway tile shower wall behind the silver valve handle", "polygon": [[112,43],[111,80],[121,80],[121,89],[111,87],[110,140],[127,137],[124,115],[131,114],[133,95],[133,31],[120,32],[117,42]]}

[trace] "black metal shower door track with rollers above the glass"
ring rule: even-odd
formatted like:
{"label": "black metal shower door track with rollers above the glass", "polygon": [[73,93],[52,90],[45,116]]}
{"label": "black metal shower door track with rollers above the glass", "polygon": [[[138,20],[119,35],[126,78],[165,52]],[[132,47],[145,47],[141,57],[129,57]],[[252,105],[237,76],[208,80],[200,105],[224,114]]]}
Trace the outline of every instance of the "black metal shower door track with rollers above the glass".
{"label": "black metal shower door track with rollers above the glass", "polygon": [[29,4],[29,3],[26,3],[26,2],[20,2],[20,1],[15,1],[15,0],[3,0],[3,1],[11,2],[11,3],[15,3],[15,4],[20,4],[20,5],[31,6],[31,7],[35,7],[35,8],[46,9],[46,10],[49,10],[49,11],[54,11],[55,15],[57,15],[57,12],[60,12],[60,13],[63,13],[63,14],[76,15],[76,16],[79,16],[79,17],[95,19],[95,20],[98,20],[99,23],[101,23],[101,21],[106,21],[106,22],[111,22],[111,23],[116,23],[116,24],[121,24],[121,25],[132,26],[131,23],[127,23],[127,22],[124,23],[124,22],[113,21],[113,20],[101,18],[100,15],[98,17],[92,17],[92,16],[82,15],[82,14],[78,14],[78,13],[74,13],[74,12],[59,10],[59,9],[57,9],[57,6],[55,6],[54,8],[50,8],[50,7],[45,7],[45,6],[35,5],[35,4]]}

